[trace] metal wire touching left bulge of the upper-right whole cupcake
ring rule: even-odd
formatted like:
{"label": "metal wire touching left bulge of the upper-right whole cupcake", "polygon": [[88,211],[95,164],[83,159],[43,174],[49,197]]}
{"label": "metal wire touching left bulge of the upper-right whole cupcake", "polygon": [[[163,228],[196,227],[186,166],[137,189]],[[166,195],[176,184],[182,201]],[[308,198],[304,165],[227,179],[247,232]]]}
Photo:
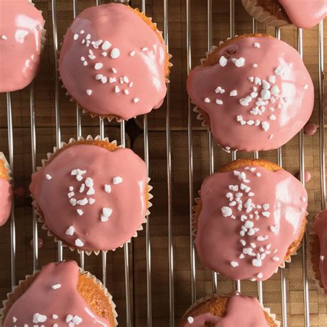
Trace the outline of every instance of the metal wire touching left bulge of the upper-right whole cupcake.
{"label": "metal wire touching left bulge of the upper-right whole cupcake", "polygon": [[[186,0],[186,55],[188,75],[192,69],[192,44],[191,44],[191,11],[190,0]],[[195,244],[192,231],[192,206],[194,201],[193,186],[193,130],[192,130],[192,106],[188,97],[188,188],[189,188],[189,219],[190,219],[190,277],[192,303],[197,299],[196,267],[195,267]]]}

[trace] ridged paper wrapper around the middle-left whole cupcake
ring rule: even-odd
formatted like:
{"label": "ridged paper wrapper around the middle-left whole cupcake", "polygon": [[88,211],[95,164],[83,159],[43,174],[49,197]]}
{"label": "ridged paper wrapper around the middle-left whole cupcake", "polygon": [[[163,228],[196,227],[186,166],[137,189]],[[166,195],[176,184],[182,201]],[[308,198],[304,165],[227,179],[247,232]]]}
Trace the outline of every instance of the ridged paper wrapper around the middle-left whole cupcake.
{"label": "ridged paper wrapper around the middle-left whole cupcake", "polygon": [[[68,144],[76,143],[77,141],[107,141],[108,143],[112,143],[112,144],[117,145],[117,141],[111,141],[110,142],[109,139],[108,139],[108,137],[106,137],[104,139],[101,139],[101,137],[99,135],[97,135],[97,137],[95,137],[95,138],[93,138],[91,135],[88,135],[88,137],[86,137],[86,139],[84,139],[83,137],[79,137],[77,140],[71,138],[68,141],[68,143],[61,142],[61,147],[60,148],[58,148],[57,146],[55,146],[53,148],[53,152],[48,152],[47,153],[47,159],[42,159],[41,160],[42,166],[38,166],[37,167],[37,171],[39,171],[42,168],[44,168],[46,166],[47,162],[49,161],[49,159],[53,155],[55,155],[55,153],[59,149],[67,146]],[[122,146],[118,146],[118,148],[122,148]],[[148,217],[148,215],[150,215],[149,208],[152,207],[152,203],[150,202],[150,199],[153,198],[153,195],[150,194],[150,191],[152,190],[152,186],[150,186],[149,182],[150,182],[150,178],[148,177],[148,184],[147,184],[147,186],[148,186],[148,206],[147,206],[147,209],[146,209],[146,215],[145,215],[143,221],[141,222],[139,228],[137,228],[137,231],[135,232],[134,235],[132,235],[132,237],[137,237],[137,232],[139,232],[140,230],[143,230],[143,224],[147,223],[147,217]],[[91,255],[92,253],[95,253],[95,255],[99,255],[100,252],[115,251],[117,249],[117,248],[115,248],[115,249],[112,249],[112,250],[83,250],[82,248],[77,248],[76,246],[72,246],[72,244],[69,244],[67,241],[65,241],[63,239],[59,239],[46,226],[46,219],[44,219],[44,217],[43,217],[43,212],[41,212],[41,210],[39,209],[39,206],[37,205],[37,201],[36,201],[36,199],[34,199],[33,195],[31,194],[30,196],[32,197],[32,206],[34,207],[34,212],[37,215],[37,221],[39,221],[42,224],[41,228],[43,230],[46,230],[47,231],[48,236],[54,238],[54,241],[56,241],[56,242],[62,241],[63,246],[68,247],[71,251],[77,250],[78,253],[84,252],[84,253],[86,253],[86,255]],[[128,239],[125,243],[130,243],[130,241],[132,240],[132,237],[130,237],[130,239]],[[121,246],[119,246],[118,248],[123,248],[123,246],[124,246],[125,243],[121,244]]]}

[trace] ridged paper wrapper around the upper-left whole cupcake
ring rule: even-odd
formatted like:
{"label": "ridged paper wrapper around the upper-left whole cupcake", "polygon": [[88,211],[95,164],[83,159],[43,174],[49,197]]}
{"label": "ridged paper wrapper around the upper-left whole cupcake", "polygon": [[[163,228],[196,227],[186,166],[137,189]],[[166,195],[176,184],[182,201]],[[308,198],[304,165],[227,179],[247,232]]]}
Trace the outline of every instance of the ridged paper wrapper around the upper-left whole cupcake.
{"label": "ridged paper wrapper around the upper-left whole cupcake", "polygon": [[[128,6],[128,5],[126,5],[126,6]],[[130,7],[130,6],[128,6],[128,7]],[[130,7],[133,11],[135,11],[135,12],[140,12],[139,11],[139,9],[138,8],[132,8],[132,7]],[[144,14],[143,12],[142,12],[142,14]],[[153,24],[153,25],[155,25],[155,27],[157,28],[157,23],[153,23],[152,22],[152,17],[148,17],[148,16],[146,16],[145,14],[144,14],[144,16]],[[161,37],[162,37],[162,34],[163,34],[163,32],[161,31],[161,30],[157,30],[157,32],[159,32],[159,34],[161,35]],[[65,39],[65,36],[66,35],[63,35],[63,39]],[[163,38],[163,40],[164,40],[164,38]],[[60,43],[60,48],[62,48],[62,45],[63,45],[63,41]],[[167,59],[167,61],[168,61],[168,63],[167,63],[167,66],[168,67],[166,67],[166,69],[168,70],[167,71],[167,74],[166,74],[166,77],[165,77],[165,81],[166,81],[166,84],[168,84],[168,83],[170,83],[170,80],[169,80],[169,75],[170,75],[170,68],[172,68],[172,63],[170,62],[170,59],[172,59],[172,55],[170,54],[170,53],[168,53],[168,49],[167,49],[167,46],[166,46],[166,59]],[[59,72],[59,57],[60,57],[60,50],[58,51],[58,58],[57,58],[57,71]],[[72,95],[70,94],[70,92],[68,92],[68,90],[67,90],[67,88],[66,88],[66,86],[65,86],[65,84],[63,83],[63,81],[62,81],[62,79],[61,79],[61,77],[60,77],[60,72],[59,72],[59,79],[61,80],[61,83],[62,83],[62,85],[61,85],[61,88],[64,88],[65,90],[66,90],[66,95],[68,96],[68,97],[70,97],[70,102],[75,102],[76,104],[77,104],[77,106],[79,106],[79,108],[81,108],[82,109],[82,112],[83,112],[83,114],[88,114],[88,115],[90,115],[92,118],[96,118],[96,117],[100,117],[101,119],[108,119],[108,121],[110,122],[110,121],[114,121],[114,120],[116,120],[118,123],[120,123],[121,121],[123,121],[123,120],[128,120],[128,119],[123,119],[122,117],[119,117],[119,116],[117,116],[117,115],[112,115],[112,114],[108,114],[108,115],[100,115],[100,114],[97,114],[96,112],[90,112],[90,111],[88,111],[88,110],[86,110],[86,108],[83,108],[83,106],[81,106],[81,104],[77,101],[77,99],[75,99],[74,97],[72,97]],[[146,115],[146,114],[140,114],[140,115]],[[134,119],[136,118],[136,117],[133,117]]]}

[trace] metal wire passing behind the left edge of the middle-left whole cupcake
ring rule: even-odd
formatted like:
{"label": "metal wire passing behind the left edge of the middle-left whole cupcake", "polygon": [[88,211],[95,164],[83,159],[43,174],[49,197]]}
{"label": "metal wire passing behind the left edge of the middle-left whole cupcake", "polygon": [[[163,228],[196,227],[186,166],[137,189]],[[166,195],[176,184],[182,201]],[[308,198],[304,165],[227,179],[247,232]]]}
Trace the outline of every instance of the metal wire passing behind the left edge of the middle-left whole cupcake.
{"label": "metal wire passing behind the left edge of the middle-left whole cupcake", "polygon": [[[34,107],[34,81],[30,83],[30,144],[32,157],[32,172],[37,168],[37,138],[35,132],[35,107]],[[39,241],[37,232],[37,215],[32,208],[32,230],[33,230],[33,271],[38,268]]]}

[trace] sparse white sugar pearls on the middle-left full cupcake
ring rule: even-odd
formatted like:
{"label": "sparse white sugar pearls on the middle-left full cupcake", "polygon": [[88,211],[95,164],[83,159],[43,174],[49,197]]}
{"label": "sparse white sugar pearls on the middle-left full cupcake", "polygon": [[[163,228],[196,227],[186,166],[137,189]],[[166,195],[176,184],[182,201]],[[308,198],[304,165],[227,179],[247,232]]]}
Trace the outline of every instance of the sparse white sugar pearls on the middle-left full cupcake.
{"label": "sparse white sugar pearls on the middle-left full cupcake", "polygon": [[[78,186],[68,186],[68,201],[72,207],[76,208],[77,217],[84,215],[84,209],[86,206],[92,206],[95,203],[95,181],[92,177],[86,177],[87,170],[81,170],[79,168],[73,169],[70,172],[70,176],[75,177],[79,182]],[[50,178],[49,178],[50,177]],[[52,177],[46,174],[46,179],[52,181]],[[101,184],[101,192],[111,193],[112,186],[116,186],[123,182],[123,178],[120,176],[115,176],[112,178],[111,184]],[[106,222],[109,217],[112,215],[112,208],[103,207],[101,212],[99,212],[99,221]],[[82,218],[82,217],[81,217]],[[87,217],[86,217],[87,219]],[[74,226],[68,226],[66,229],[66,235],[73,236],[75,235]],[[83,246],[84,242],[80,238],[75,238],[75,246]]]}

